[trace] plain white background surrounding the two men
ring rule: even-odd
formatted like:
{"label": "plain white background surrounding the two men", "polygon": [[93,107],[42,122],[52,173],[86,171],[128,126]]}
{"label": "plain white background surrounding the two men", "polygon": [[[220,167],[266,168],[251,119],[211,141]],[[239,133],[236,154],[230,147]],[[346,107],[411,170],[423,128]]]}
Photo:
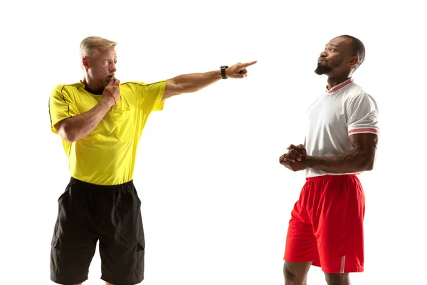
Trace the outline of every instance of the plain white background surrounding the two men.
{"label": "plain white background surrounding the two men", "polygon": [[[258,60],[243,80],[168,99],[142,135],[135,185],[146,236],[142,284],[283,284],[290,211],[305,182],[278,157],[302,143],[322,92],[313,71],[334,36],[366,48],[354,80],[374,96],[381,137],[367,197],[365,272],[353,284],[427,284],[426,71],[415,1],[20,1],[1,16],[0,272],[51,284],[57,199],[69,180],[48,97],[81,78],[86,36],[119,42],[117,78],[153,82]],[[422,3],[420,1],[420,3]],[[96,252],[85,284],[102,284]],[[325,284],[310,269],[309,284]]]}

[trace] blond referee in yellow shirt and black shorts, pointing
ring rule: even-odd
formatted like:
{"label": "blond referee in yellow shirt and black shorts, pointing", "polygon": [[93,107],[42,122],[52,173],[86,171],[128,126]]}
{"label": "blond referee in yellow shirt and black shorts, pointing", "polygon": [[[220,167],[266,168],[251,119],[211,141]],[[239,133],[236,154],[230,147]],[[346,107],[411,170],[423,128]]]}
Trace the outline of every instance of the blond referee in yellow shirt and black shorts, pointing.
{"label": "blond referee in yellow shirt and black shorts, pointing", "polygon": [[221,66],[147,84],[115,78],[117,43],[91,36],[80,43],[83,80],[54,88],[51,130],[63,140],[70,182],[58,199],[51,248],[51,280],[88,279],[99,240],[101,279],[134,285],[144,279],[141,201],[132,183],[137,145],[149,114],[164,100],[193,93],[221,78],[245,78],[256,63]]}

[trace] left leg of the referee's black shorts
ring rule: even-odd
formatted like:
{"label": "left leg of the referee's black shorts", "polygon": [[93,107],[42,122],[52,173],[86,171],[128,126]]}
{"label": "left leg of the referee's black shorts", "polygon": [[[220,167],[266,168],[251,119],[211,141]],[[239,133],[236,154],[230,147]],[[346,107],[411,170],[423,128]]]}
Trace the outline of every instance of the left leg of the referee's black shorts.
{"label": "left leg of the referee's black shorts", "polygon": [[68,185],[58,199],[58,217],[51,242],[51,280],[79,284],[88,279],[96,235],[85,206],[84,191]]}

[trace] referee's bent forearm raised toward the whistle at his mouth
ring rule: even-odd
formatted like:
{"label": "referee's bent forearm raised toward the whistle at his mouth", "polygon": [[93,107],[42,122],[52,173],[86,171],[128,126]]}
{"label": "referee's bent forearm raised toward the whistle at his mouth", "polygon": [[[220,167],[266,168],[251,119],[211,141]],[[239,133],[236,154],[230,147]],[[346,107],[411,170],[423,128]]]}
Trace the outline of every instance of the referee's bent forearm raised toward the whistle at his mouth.
{"label": "referee's bent forearm raised toward the whistle at his mouth", "polygon": [[97,103],[95,107],[87,112],[64,120],[58,129],[58,133],[68,142],[75,142],[85,138],[96,128],[110,108],[111,105],[109,103],[101,100],[100,103]]}

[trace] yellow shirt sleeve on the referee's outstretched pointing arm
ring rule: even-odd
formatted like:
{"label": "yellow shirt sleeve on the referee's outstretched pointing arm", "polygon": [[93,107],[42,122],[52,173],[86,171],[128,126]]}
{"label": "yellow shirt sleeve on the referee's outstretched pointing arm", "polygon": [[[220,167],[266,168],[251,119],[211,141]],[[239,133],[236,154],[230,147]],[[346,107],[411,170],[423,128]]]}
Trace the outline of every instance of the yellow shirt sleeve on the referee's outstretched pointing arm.
{"label": "yellow shirt sleeve on the referee's outstretched pointing arm", "polygon": [[157,83],[142,83],[142,92],[140,95],[140,103],[142,109],[148,111],[161,111],[164,107],[164,90],[166,88],[166,80]]}

